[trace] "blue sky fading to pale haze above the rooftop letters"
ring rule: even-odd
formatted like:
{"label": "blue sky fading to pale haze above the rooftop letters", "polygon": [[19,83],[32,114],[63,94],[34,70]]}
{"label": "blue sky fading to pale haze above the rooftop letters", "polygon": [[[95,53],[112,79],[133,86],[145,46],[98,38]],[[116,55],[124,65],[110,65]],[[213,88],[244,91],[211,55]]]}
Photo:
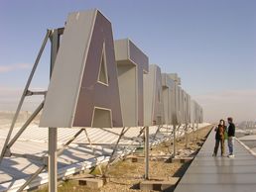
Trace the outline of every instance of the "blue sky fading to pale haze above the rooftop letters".
{"label": "blue sky fading to pale haze above the rooftop letters", "polygon": [[[115,40],[130,38],[162,71],[179,73],[206,120],[256,119],[255,0],[0,0],[0,110],[24,87],[46,30],[91,8],[111,21]],[[48,53],[35,87],[47,86]]]}

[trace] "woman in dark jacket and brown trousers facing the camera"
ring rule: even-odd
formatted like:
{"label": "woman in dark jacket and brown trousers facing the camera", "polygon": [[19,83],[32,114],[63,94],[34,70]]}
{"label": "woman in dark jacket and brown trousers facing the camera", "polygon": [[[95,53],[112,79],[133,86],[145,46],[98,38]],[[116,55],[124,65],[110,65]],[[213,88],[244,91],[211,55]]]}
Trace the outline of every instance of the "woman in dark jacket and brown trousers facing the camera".
{"label": "woman in dark jacket and brown trousers facing the camera", "polygon": [[219,125],[215,128],[215,147],[214,147],[214,151],[212,156],[216,156],[217,155],[217,150],[218,150],[218,146],[220,143],[220,149],[221,149],[221,156],[224,155],[225,152],[225,145],[224,145],[224,141],[225,141],[225,132],[226,132],[226,126],[225,126],[225,121],[224,120],[220,120],[219,121]]}

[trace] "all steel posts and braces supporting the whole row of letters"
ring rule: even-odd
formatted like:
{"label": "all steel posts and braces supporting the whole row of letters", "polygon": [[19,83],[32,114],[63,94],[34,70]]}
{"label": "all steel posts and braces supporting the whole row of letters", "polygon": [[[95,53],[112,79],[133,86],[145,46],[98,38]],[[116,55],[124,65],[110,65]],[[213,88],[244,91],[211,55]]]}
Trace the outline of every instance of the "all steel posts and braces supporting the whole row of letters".
{"label": "all steel posts and braces supporting the whole row of letters", "polygon": [[[30,123],[35,119],[35,117],[40,113],[40,111],[43,109],[44,107],[44,101],[38,106],[38,108],[35,110],[35,112],[31,115],[31,117],[26,121],[26,123],[22,126],[22,128],[19,130],[19,132],[14,136],[14,138],[12,138],[11,140],[11,135],[12,132],[14,130],[16,121],[18,119],[18,116],[20,114],[21,108],[23,106],[24,100],[26,98],[26,96],[32,96],[32,95],[45,95],[47,94],[47,91],[38,91],[38,92],[33,92],[29,90],[30,84],[32,82],[32,79],[34,77],[35,71],[38,67],[40,58],[43,54],[43,51],[47,45],[48,40],[51,40],[52,43],[52,47],[51,47],[51,67],[50,67],[50,78],[52,75],[52,71],[54,68],[54,62],[57,56],[57,52],[58,52],[58,48],[60,47],[60,36],[64,33],[64,28],[60,28],[60,29],[56,29],[56,30],[48,30],[46,37],[44,39],[44,42],[42,44],[42,47],[40,48],[39,54],[36,58],[36,61],[34,63],[34,66],[32,68],[32,71],[30,73],[30,76],[28,78],[28,81],[26,83],[25,89],[23,91],[22,97],[20,99],[19,105],[17,107],[15,116],[13,118],[9,133],[7,135],[6,141],[4,143],[2,152],[1,152],[1,156],[0,156],[0,163],[2,162],[3,157],[6,155],[6,153],[10,154],[10,155],[14,155],[14,156],[23,156],[23,157],[27,157],[27,158],[35,158],[35,159],[41,159],[41,157],[33,157],[33,155],[30,154],[17,154],[17,153],[11,153],[10,152],[10,148],[13,144],[15,144],[15,142],[19,139],[19,137],[23,134],[23,132],[27,129],[27,127],[30,125]],[[198,125],[198,124],[197,124]],[[196,126],[198,127],[198,126]],[[121,140],[121,138],[124,136],[124,134],[129,130],[129,128],[127,128],[127,130],[125,130],[125,128],[122,129],[121,134],[119,135],[119,138],[117,140],[117,143],[114,146],[114,149],[112,151],[112,154],[110,156],[110,159],[108,161],[107,164],[107,168],[104,172],[104,175],[109,167],[109,165],[112,162],[113,156],[117,150],[118,144]],[[154,139],[156,138],[156,135],[158,134],[160,130],[160,127],[158,128]],[[81,129],[81,131],[85,131],[85,135],[88,139],[88,135],[86,133],[85,129]],[[150,150],[150,140],[149,140],[149,127],[144,127],[141,132],[139,137],[141,136],[142,133],[145,133],[145,179],[149,179],[149,150]],[[81,132],[79,131],[79,134]],[[78,134],[78,135],[79,135]],[[77,135],[77,136],[78,136]],[[77,137],[76,136],[76,137]],[[68,144],[70,144],[76,137],[74,137],[72,140],[70,140],[68,142]],[[11,140],[11,142],[9,142]],[[22,187],[18,190],[18,191],[22,191],[26,188],[26,186],[33,180],[35,179],[44,169],[46,169],[48,167],[49,169],[49,190],[50,192],[56,192],[57,191],[57,183],[58,183],[58,166],[57,166],[57,157],[58,155],[60,155],[63,151],[63,149],[58,150],[58,145],[57,145],[57,141],[58,141],[58,128],[49,128],[49,158],[48,158],[48,165],[44,164],[42,167],[40,167],[23,185]],[[91,142],[88,139],[88,142],[90,144],[90,146],[92,147]],[[65,146],[67,146],[68,144],[65,144]],[[174,126],[174,156],[176,154],[176,126]],[[9,156],[9,155],[8,155]],[[42,157],[44,159],[44,157]],[[44,161],[44,160],[43,160]]]}

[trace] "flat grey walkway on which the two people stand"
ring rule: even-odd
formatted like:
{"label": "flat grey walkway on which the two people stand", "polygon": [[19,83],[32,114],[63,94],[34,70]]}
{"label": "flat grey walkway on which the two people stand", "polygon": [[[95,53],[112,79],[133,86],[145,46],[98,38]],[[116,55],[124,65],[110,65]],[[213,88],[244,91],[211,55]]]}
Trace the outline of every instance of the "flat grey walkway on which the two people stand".
{"label": "flat grey walkway on which the two people stand", "polygon": [[215,132],[212,130],[175,192],[255,191],[255,154],[239,141],[235,141],[235,158],[221,157],[220,151],[216,157],[212,157],[214,136]]}

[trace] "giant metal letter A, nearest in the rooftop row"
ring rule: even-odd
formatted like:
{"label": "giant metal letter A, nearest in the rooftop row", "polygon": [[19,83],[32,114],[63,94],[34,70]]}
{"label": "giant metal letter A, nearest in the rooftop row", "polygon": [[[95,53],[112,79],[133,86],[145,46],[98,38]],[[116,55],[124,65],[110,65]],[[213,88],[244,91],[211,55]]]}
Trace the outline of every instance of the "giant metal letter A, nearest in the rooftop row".
{"label": "giant metal letter A, nearest in the rooftop row", "polygon": [[42,127],[122,127],[111,23],[97,10],[68,16]]}

